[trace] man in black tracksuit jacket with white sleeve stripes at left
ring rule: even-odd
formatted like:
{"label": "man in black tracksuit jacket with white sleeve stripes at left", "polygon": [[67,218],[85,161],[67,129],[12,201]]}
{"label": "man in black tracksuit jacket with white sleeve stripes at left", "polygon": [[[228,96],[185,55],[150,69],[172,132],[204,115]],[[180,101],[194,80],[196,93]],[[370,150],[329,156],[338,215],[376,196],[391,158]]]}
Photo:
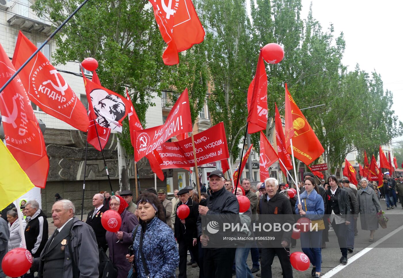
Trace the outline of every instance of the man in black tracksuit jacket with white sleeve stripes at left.
{"label": "man in black tracksuit jacket with white sleeve stripes at left", "polygon": [[[24,232],[27,249],[34,258],[39,258],[48,241],[48,220],[35,200],[25,204],[25,215],[31,217]],[[25,274],[24,277],[33,277],[33,273]]]}

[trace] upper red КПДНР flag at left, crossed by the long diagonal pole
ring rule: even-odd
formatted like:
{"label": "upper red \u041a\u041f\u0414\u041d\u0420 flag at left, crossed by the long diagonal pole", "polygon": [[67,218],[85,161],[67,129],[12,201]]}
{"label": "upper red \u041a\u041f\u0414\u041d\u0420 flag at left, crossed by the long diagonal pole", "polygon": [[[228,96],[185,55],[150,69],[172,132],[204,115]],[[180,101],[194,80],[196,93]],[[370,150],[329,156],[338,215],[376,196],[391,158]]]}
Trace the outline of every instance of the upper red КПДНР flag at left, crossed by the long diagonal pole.
{"label": "upper red \u041a\u041f\u0414\u041d\u0420 flag at left, crossed by the long diagonal pole", "polygon": [[[20,68],[36,50],[37,47],[19,31],[12,57],[14,67]],[[42,111],[78,130],[87,131],[87,110],[42,52],[38,52],[18,75],[29,99]]]}

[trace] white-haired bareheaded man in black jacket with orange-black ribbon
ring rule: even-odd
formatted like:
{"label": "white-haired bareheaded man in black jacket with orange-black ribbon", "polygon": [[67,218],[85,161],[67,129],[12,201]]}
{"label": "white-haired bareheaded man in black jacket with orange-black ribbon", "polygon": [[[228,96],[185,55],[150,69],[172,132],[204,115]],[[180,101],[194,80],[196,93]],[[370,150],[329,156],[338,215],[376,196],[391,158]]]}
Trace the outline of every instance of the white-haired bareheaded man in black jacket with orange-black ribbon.
{"label": "white-haired bareheaded man in black jacket with orange-black ribbon", "polygon": [[[284,214],[282,221],[288,222],[291,225],[294,224],[293,209],[288,198],[278,193],[278,180],[274,178],[268,178],[265,181],[266,194],[260,199],[260,214],[267,214],[260,218],[264,222],[279,222],[280,217],[277,214]],[[272,277],[272,264],[274,256],[277,255],[280,260],[281,268],[283,269],[284,278],[293,278],[293,268],[290,262],[290,249],[287,248],[291,244],[292,229],[288,232],[279,231],[272,232],[270,236],[275,237],[273,241],[273,247],[262,248],[262,259],[260,263],[262,265],[262,277]],[[278,245],[276,248],[274,246]],[[282,247],[280,247],[282,246]]]}

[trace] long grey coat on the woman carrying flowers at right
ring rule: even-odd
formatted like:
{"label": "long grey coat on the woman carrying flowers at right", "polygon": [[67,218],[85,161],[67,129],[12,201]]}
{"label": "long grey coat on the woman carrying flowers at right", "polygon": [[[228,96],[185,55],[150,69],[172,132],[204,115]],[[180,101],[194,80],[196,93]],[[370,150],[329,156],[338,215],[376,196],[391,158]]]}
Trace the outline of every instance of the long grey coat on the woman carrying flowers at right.
{"label": "long grey coat on the woman carrying flowers at right", "polygon": [[375,191],[371,188],[357,192],[358,210],[360,214],[361,229],[372,231],[378,230],[378,218],[376,214],[382,210]]}

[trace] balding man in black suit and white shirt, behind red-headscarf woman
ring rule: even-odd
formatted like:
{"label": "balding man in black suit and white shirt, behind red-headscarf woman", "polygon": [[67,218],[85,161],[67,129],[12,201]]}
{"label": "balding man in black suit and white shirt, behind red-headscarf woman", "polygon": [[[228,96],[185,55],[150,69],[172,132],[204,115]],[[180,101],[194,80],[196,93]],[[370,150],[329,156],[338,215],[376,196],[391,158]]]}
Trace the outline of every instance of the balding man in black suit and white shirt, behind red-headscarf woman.
{"label": "balding man in black suit and white shirt, behind red-headscarf woman", "polygon": [[92,205],[94,209],[88,213],[87,221],[85,221],[85,223],[91,226],[91,228],[94,230],[95,237],[97,238],[98,248],[101,247],[106,252],[106,249],[108,249],[108,243],[106,243],[106,230],[104,226],[102,226],[101,219],[102,214],[109,210],[109,207],[104,205],[104,195],[100,193],[93,196]]}

